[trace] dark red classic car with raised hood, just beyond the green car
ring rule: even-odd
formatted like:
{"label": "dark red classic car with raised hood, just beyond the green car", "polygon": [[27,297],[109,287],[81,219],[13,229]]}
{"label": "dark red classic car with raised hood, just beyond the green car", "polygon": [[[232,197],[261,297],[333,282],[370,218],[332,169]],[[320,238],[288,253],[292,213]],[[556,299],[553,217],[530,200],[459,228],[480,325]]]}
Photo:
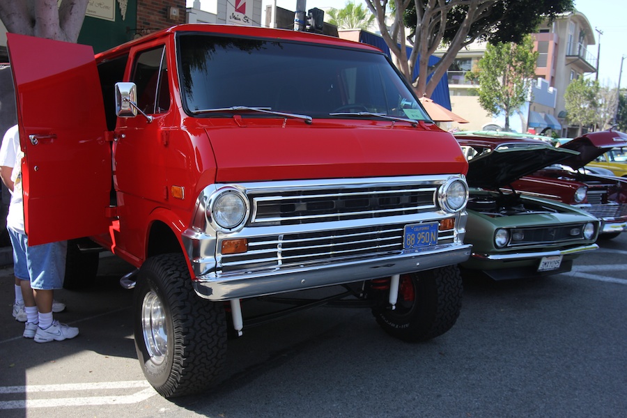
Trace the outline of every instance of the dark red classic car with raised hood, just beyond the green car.
{"label": "dark red classic car with raised hood, just beyond the green car", "polygon": [[[534,139],[496,137],[490,134],[456,134],[460,144],[483,144],[497,148],[511,142],[536,142]],[[589,173],[583,167],[615,147],[627,146],[627,134],[616,131],[589,132],[563,144],[578,151],[544,169],[511,184],[521,194],[552,199],[576,206],[601,220],[599,238],[616,238],[627,231],[627,179]]]}

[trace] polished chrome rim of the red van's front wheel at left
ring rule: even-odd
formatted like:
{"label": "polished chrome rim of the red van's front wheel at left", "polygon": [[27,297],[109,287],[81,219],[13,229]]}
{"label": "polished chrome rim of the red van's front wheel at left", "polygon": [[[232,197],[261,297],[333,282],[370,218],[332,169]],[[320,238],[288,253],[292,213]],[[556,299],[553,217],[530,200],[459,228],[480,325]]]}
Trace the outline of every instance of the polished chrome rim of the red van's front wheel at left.
{"label": "polished chrome rim of the red van's front wheel at left", "polygon": [[141,304],[141,328],[150,359],[162,364],[168,354],[166,315],[159,296],[153,291],[146,293]]}

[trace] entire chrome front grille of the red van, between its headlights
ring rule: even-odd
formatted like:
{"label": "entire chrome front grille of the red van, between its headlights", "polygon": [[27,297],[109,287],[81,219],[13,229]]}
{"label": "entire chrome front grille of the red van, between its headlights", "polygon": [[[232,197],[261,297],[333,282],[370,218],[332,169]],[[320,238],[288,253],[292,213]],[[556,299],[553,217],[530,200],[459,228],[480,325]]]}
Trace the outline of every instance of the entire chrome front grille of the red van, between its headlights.
{"label": "entire chrome front grille of the red van, between its headlights", "polygon": [[[248,249],[217,254],[217,268],[230,272],[398,253],[403,251],[405,225],[450,216],[438,203],[438,189],[447,178],[242,185],[251,202],[251,220],[238,238],[247,238]],[[438,232],[438,246],[455,240],[454,229]]]}

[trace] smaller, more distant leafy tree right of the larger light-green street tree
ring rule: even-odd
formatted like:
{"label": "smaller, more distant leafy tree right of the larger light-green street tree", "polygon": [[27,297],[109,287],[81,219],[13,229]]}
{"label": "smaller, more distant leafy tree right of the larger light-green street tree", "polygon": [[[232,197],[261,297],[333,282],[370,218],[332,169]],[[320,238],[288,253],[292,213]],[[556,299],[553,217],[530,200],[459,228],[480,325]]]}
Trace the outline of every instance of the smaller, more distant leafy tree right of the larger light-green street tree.
{"label": "smaller, more distant leafy tree right of the larger light-green street tree", "polygon": [[582,128],[596,123],[598,110],[598,81],[579,77],[566,87],[566,121],[571,125],[578,125],[577,136],[582,134]]}

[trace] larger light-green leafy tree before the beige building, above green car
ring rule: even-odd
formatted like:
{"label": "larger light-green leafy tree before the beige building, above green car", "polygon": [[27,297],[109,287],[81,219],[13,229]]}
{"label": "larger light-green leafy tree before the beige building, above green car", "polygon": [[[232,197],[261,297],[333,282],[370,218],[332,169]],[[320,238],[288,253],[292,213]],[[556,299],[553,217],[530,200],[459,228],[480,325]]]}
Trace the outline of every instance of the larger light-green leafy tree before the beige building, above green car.
{"label": "larger light-green leafy tree before the beige building, above green car", "polygon": [[479,82],[481,107],[492,115],[504,112],[505,130],[509,130],[509,116],[529,98],[538,59],[538,52],[533,49],[531,35],[520,44],[488,44],[477,70],[470,74]]}

